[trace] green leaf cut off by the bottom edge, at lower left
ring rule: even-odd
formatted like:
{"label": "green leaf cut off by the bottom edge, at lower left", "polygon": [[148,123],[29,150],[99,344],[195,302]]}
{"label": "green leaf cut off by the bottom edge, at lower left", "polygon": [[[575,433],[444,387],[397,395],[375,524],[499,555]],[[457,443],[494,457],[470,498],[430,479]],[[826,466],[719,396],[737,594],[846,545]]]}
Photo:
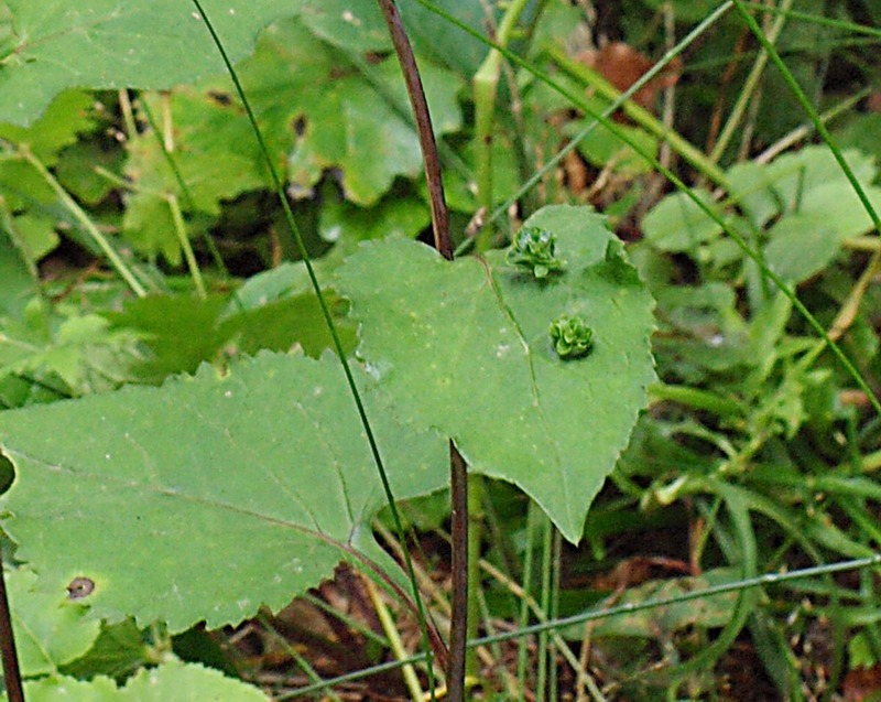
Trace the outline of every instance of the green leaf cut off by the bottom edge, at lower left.
{"label": "green leaf cut off by the bottom edge, at lower left", "polygon": [[[88,682],[74,678],[53,677],[26,682],[24,691],[29,702],[267,702],[257,688],[239,680],[224,677],[217,670],[178,660],[164,662],[156,668],[143,669],[117,688],[108,678]],[[0,699],[6,699],[3,695]]]}

